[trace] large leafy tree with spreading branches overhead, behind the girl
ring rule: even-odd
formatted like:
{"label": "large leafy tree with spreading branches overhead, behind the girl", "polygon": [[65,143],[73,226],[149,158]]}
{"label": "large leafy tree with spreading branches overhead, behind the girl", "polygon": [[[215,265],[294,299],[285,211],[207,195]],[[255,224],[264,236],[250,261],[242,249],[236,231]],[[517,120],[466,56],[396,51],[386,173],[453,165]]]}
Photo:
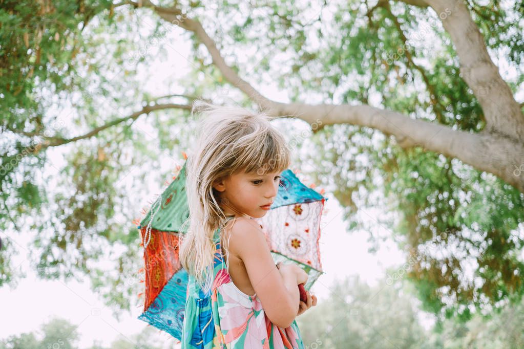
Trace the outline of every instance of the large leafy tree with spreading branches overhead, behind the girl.
{"label": "large leafy tree with spreading branches overhead, behind the girl", "polygon": [[[36,217],[25,226],[38,231],[42,277],[80,272],[105,286],[133,278],[116,295],[105,290],[128,308],[139,263],[122,178],[190,144],[194,98],[231,98],[310,125],[307,139],[289,133],[293,147],[309,150],[296,163],[312,166],[351,229],[363,226],[365,208],[399,213],[379,224],[394,227],[426,309],[467,319],[503,308],[523,290],[524,118],[514,97],[523,13],[500,1],[7,2],[0,228]],[[194,69],[176,77],[183,91],[153,95],[138,72],[154,69],[173,34],[192,43]],[[517,78],[503,79],[499,57]],[[268,83],[290,102],[264,96]],[[60,174],[36,176],[55,149],[65,154]],[[50,181],[61,192],[47,193]],[[13,283],[17,246],[5,243],[2,282]],[[116,246],[126,249],[109,256],[117,268],[88,265]]]}

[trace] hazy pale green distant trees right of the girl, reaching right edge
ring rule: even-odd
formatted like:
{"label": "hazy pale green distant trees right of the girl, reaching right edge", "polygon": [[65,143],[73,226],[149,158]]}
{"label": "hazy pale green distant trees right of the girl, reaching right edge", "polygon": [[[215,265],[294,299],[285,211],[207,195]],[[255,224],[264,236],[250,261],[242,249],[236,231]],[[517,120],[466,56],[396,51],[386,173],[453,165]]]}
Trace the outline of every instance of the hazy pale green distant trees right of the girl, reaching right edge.
{"label": "hazy pale green distant trees right of the girl, reaching right edge", "polygon": [[[379,280],[370,287],[358,278],[330,285],[327,299],[297,318],[304,345],[329,348],[520,348],[524,306],[518,303],[492,317],[434,321],[414,308],[409,283]],[[428,322],[421,327],[420,319]],[[433,324],[431,324],[433,323]]]}

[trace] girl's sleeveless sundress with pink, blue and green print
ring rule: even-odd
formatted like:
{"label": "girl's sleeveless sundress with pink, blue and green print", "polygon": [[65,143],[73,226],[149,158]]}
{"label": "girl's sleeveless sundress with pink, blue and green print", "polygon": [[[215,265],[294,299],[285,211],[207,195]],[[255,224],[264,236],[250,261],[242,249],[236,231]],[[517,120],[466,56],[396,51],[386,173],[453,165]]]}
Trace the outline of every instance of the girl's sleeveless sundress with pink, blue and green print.
{"label": "girl's sleeveless sundress with pink, blue and green print", "polygon": [[213,286],[204,294],[189,276],[182,325],[182,348],[304,348],[295,320],[282,329],[267,318],[260,299],[239,290],[231,280],[222,254],[220,228],[214,233],[216,250]]}

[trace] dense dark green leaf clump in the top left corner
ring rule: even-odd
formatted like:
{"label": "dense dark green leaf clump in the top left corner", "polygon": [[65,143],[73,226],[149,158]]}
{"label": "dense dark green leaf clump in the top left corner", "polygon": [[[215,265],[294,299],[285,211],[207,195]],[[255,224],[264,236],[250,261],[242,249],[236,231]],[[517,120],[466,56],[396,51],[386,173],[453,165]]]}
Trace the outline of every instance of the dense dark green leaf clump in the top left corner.
{"label": "dense dark green leaf clump in the top left corner", "polygon": [[[58,93],[74,74],[88,21],[110,1],[3,1],[0,8],[0,115],[3,130],[43,129],[42,87]],[[30,130],[27,130],[30,129]]]}

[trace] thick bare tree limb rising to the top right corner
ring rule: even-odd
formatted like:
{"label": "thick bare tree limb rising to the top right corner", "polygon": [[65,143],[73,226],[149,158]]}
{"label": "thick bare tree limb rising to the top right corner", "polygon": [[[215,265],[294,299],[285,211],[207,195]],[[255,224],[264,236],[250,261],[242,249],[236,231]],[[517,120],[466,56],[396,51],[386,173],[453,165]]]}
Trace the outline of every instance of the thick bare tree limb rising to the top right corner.
{"label": "thick bare tree limb rising to the top right corner", "polygon": [[464,81],[486,117],[486,131],[524,139],[524,115],[508,84],[489,57],[484,38],[460,0],[426,0],[450,34]]}

